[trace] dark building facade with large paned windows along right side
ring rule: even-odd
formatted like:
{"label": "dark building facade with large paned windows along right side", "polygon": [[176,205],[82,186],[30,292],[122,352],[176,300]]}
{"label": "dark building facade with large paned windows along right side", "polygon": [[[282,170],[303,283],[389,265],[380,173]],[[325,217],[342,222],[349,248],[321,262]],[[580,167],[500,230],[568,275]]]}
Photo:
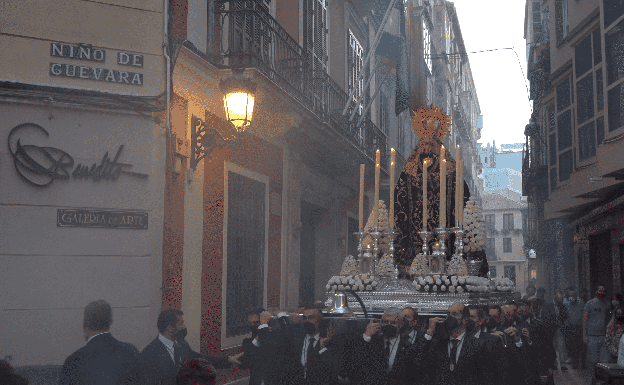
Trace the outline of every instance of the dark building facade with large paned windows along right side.
{"label": "dark building facade with large paned windows along right side", "polygon": [[624,5],[527,1],[526,10],[530,243],[545,258],[551,292],[572,285],[593,293],[598,284],[619,292]]}

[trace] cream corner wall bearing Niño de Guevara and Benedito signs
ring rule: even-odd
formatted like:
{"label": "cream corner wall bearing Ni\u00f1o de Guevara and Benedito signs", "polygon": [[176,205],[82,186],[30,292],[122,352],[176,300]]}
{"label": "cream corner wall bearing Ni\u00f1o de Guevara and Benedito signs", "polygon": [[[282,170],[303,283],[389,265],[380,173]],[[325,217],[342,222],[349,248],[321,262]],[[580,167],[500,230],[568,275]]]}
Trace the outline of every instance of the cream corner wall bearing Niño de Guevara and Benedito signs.
{"label": "cream corner wall bearing Ni\u00f1o de Guevara and Benedito signs", "polygon": [[165,5],[0,4],[0,355],[16,366],[63,363],[98,299],[115,337],[157,335]]}

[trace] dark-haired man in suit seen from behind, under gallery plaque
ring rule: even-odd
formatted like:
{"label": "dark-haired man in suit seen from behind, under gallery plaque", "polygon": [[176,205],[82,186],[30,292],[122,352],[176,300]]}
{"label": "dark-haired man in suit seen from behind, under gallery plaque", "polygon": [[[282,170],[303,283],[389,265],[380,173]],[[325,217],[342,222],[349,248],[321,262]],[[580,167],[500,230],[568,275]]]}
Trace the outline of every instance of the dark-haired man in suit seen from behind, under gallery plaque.
{"label": "dark-haired man in suit seen from behind, under gallery plaque", "polygon": [[112,323],[113,310],[106,301],[94,301],[85,307],[83,334],[87,344],[65,360],[61,385],[137,383],[139,351],[110,334]]}

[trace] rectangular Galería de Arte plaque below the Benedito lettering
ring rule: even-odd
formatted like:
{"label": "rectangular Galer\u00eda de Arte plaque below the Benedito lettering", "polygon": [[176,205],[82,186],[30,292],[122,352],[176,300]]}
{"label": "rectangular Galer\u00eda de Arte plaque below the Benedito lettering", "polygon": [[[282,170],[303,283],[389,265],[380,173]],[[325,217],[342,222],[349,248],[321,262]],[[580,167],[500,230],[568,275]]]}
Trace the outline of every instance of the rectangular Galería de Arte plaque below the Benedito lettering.
{"label": "rectangular Galer\u00eda de Arte plaque below the Benedito lettering", "polygon": [[147,229],[147,213],[137,211],[57,209],[58,227]]}

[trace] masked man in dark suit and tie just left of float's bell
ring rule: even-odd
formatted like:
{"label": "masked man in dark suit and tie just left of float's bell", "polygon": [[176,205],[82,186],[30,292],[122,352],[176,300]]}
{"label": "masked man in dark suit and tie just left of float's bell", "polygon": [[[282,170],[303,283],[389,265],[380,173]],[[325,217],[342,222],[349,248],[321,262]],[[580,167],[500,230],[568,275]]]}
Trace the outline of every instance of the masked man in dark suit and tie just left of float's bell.
{"label": "masked man in dark suit and tie just left of float's bell", "polygon": [[[323,314],[314,306],[303,312],[303,325],[281,325],[267,340],[275,346],[273,368],[280,385],[326,385],[335,381],[332,349],[328,346],[331,329],[325,326]],[[266,328],[267,325],[260,325]]]}

